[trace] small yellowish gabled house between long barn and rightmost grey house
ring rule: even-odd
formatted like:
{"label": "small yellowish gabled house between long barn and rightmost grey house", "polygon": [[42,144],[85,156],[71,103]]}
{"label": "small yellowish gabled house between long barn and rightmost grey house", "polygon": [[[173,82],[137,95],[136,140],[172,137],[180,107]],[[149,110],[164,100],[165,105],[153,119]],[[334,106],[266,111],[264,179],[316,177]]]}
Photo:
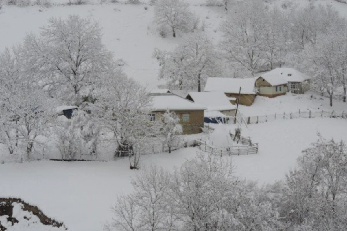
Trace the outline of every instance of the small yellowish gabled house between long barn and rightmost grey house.
{"label": "small yellowish gabled house between long barn and rightmost grey house", "polygon": [[287,92],[287,81],[281,76],[273,75],[270,72],[256,78],[258,94],[269,98],[285,95]]}

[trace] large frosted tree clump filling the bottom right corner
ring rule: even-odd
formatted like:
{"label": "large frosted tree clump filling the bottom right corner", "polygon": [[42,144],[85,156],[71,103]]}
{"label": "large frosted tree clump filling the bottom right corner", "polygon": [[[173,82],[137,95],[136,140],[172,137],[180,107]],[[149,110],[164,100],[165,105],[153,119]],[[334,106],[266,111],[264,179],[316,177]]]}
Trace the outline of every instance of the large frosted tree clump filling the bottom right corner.
{"label": "large frosted tree clump filling the bottom right corner", "polygon": [[[281,216],[294,230],[344,230],[347,209],[347,147],[320,140],[303,151],[286,178]],[[283,213],[284,212],[284,213]]]}

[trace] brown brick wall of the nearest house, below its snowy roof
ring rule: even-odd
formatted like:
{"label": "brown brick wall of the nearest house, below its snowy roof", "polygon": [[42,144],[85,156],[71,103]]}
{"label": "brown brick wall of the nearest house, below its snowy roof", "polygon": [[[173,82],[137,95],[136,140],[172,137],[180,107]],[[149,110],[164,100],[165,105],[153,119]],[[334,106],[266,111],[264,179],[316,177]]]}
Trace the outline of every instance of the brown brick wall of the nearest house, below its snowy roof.
{"label": "brown brick wall of the nearest house, below its snowy roof", "polygon": [[[183,134],[197,134],[202,132],[204,126],[204,111],[172,111],[180,118],[180,124],[183,128]],[[156,119],[160,118],[165,112],[154,112]],[[189,114],[189,122],[183,122],[183,114]]]}

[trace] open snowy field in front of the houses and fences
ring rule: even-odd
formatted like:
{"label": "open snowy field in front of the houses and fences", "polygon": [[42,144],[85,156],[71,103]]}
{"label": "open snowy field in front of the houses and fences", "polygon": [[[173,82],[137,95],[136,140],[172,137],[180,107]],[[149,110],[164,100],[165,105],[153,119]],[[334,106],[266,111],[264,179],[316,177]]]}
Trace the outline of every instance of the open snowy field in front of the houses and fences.
{"label": "open snowy field in front of the houses and fences", "polygon": [[[248,126],[253,142],[259,143],[259,154],[234,156],[235,175],[257,180],[259,185],[283,179],[295,167],[301,151],[317,139],[347,142],[346,119],[291,119]],[[231,126],[230,126],[231,128]],[[144,165],[155,164],[172,170],[193,158],[197,148],[181,149],[171,154],[142,157]],[[225,157],[229,158],[229,157]],[[110,162],[34,161],[0,166],[0,197],[21,197],[38,205],[46,215],[63,221],[69,230],[101,231],[110,220],[110,206],[117,195],[132,188],[128,159]],[[4,177],[5,176],[5,177]]]}

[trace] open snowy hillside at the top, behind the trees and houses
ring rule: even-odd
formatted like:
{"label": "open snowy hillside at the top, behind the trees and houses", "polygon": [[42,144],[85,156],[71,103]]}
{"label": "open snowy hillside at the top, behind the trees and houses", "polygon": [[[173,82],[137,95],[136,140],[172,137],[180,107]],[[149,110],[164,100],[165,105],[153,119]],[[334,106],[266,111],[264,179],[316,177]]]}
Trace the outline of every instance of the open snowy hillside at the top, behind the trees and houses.
{"label": "open snowy hillside at the top, behind the trees and houses", "polygon": [[[124,61],[124,70],[129,77],[156,88],[159,65],[152,58],[154,48],[170,51],[182,41],[182,35],[163,38],[153,23],[153,6],[144,4],[99,3],[89,1],[85,5],[66,5],[67,0],[54,0],[52,6],[3,6],[0,10],[0,52],[22,42],[27,33],[37,33],[50,17],[66,18],[71,14],[92,17],[103,28],[103,43],[113,52],[115,59]],[[200,18],[200,26],[205,24],[204,32],[217,44],[220,38],[219,25],[225,14],[223,7],[205,5],[205,0],[190,0],[191,9]],[[281,7],[287,1],[272,1]],[[290,7],[301,7],[308,1],[291,1]],[[65,4],[65,5],[64,5]],[[342,15],[347,15],[347,5],[331,0],[318,0],[315,4],[332,4]],[[147,8],[147,10],[145,9]]]}

